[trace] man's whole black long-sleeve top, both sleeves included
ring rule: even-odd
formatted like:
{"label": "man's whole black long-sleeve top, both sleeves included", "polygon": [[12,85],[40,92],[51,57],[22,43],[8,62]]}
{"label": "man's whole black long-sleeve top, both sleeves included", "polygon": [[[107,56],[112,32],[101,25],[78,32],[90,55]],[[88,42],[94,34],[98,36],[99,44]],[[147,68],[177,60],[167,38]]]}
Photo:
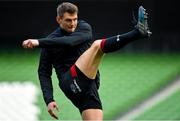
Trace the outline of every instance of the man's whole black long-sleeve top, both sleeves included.
{"label": "man's whole black long-sleeve top, both sleeves included", "polygon": [[[88,23],[81,20],[73,33],[67,33],[59,27],[47,38],[38,40],[39,47],[42,48],[38,75],[43,97],[48,105],[54,101],[51,79],[53,67],[60,81],[62,75],[92,44],[92,29]],[[96,80],[99,82],[99,74]]]}

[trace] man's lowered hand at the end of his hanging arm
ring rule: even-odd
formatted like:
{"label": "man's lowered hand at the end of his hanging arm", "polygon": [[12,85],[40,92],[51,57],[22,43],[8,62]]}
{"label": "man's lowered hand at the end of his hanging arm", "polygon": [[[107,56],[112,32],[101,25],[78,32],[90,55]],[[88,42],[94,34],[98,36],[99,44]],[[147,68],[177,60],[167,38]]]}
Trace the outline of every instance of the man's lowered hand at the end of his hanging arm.
{"label": "man's lowered hand at the end of his hanging arm", "polygon": [[55,113],[56,110],[59,111],[56,102],[50,102],[48,104],[48,112],[53,118],[58,119],[57,114]]}

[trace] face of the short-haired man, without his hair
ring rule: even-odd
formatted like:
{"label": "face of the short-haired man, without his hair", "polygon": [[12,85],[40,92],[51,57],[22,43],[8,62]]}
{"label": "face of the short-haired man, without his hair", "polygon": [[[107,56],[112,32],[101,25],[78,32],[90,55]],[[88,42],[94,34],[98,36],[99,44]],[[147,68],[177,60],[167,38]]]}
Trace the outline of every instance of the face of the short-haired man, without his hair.
{"label": "face of the short-haired man, without his hair", "polygon": [[68,33],[72,33],[75,31],[77,27],[77,13],[70,14],[70,13],[64,13],[62,17],[57,16],[56,20],[60,27],[67,31]]}

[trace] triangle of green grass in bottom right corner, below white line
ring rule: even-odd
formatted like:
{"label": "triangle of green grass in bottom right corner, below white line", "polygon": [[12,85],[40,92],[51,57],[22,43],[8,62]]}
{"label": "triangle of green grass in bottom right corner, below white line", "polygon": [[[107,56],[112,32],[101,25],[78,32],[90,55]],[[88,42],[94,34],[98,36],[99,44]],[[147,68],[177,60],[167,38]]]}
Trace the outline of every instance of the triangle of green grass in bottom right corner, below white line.
{"label": "triangle of green grass in bottom right corner, below white line", "polygon": [[135,118],[135,120],[180,120],[179,101],[180,90]]}

